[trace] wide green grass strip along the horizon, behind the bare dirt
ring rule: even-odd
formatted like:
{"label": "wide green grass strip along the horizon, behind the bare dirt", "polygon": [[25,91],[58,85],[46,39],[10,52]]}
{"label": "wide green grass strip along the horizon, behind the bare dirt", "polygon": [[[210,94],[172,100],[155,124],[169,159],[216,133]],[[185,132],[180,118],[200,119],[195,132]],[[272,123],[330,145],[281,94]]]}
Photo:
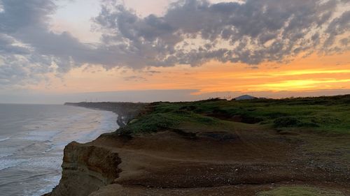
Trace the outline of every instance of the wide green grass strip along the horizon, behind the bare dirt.
{"label": "wide green grass strip along the horizon, behind the bare dirt", "polygon": [[146,114],[121,130],[154,133],[186,124],[218,126],[239,121],[278,130],[314,130],[319,133],[350,133],[350,95],[281,100],[202,100],[183,103],[152,103]]}

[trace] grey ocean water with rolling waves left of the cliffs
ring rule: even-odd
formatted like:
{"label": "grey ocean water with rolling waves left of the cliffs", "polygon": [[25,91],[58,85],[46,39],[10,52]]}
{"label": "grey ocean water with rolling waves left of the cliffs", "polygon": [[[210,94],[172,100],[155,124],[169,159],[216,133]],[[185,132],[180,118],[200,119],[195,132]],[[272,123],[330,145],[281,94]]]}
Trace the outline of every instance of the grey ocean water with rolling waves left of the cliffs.
{"label": "grey ocean water with rolling waves left of the cliffs", "polygon": [[63,149],[118,128],[113,112],[0,104],[0,195],[42,195],[61,178]]}

